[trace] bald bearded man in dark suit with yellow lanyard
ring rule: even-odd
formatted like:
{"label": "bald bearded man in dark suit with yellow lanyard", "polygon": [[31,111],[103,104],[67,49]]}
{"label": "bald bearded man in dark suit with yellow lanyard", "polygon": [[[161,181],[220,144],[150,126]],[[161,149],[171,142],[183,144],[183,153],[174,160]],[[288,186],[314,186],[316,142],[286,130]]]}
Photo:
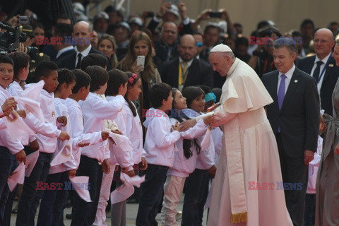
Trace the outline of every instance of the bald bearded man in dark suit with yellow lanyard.
{"label": "bald bearded man in dark suit with yellow lanyard", "polygon": [[207,85],[213,88],[213,70],[210,64],[196,59],[196,40],[192,35],[180,38],[179,57],[160,66],[163,83],[172,87],[183,88],[190,85]]}

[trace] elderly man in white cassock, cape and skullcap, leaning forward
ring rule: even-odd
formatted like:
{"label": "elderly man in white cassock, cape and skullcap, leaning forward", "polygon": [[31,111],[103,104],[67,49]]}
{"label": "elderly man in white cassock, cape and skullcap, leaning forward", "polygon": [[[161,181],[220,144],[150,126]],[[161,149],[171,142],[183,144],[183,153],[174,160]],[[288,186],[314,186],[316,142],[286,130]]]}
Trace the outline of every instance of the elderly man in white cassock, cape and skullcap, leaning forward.
{"label": "elderly man in white cassock, cape and skullcap, leaning forward", "polygon": [[272,98],[227,45],[215,46],[209,60],[213,71],[227,78],[212,124],[224,134],[207,225],[292,225],[278,147],[264,109]]}

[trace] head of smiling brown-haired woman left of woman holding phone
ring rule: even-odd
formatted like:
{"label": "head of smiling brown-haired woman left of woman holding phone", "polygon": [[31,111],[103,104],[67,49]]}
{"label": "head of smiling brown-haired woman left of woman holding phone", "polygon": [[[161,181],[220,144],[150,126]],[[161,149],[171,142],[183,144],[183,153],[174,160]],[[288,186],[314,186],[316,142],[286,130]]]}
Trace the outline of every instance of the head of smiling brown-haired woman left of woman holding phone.
{"label": "head of smiling brown-haired woman left of woman holding phone", "polygon": [[102,35],[99,42],[97,42],[97,50],[105,54],[111,61],[112,69],[117,68],[118,59],[115,50],[117,49],[117,43],[112,35]]}

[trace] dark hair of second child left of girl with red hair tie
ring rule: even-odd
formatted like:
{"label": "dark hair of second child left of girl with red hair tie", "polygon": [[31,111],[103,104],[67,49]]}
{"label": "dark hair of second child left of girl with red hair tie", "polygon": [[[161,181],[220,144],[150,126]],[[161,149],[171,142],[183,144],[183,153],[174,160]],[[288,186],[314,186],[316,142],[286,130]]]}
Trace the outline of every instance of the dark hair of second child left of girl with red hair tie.
{"label": "dark hair of second child left of girl with red hair tie", "polygon": [[90,92],[99,90],[100,86],[105,85],[108,81],[108,72],[101,66],[89,66],[85,69],[92,81],[90,82]]}

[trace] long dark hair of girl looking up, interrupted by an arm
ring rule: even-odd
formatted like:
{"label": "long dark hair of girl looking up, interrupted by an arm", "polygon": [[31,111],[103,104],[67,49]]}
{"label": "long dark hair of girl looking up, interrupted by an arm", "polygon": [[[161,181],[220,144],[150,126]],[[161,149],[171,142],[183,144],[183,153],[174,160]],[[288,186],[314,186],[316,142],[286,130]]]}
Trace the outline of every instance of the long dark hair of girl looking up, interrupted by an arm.
{"label": "long dark hair of girl looking up, interrupted by an arm", "polygon": [[[181,123],[181,122],[184,121],[183,119],[189,120],[190,118],[187,117],[186,114],[184,114],[184,112],[179,112],[177,109],[174,108],[174,97],[175,97],[175,94],[178,91],[179,90],[177,88],[172,89],[173,102],[172,102],[171,117],[173,117],[174,119],[177,119]],[[194,138],[193,141],[184,139],[184,141],[182,143],[182,148],[184,149],[184,155],[185,155],[186,159],[189,159],[193,155],[193,153],[191,151],[192,144],[196,146],[196,153],[198,153],[198,154],[201,153],[201,146],[196,141],[196,138]]]}

